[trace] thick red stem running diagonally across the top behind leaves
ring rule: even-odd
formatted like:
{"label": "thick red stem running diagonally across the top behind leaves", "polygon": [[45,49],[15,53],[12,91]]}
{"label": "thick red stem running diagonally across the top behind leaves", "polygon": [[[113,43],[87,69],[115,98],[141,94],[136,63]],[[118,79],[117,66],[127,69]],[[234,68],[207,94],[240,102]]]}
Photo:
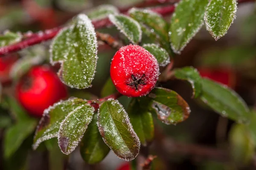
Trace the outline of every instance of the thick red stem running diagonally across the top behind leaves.
{"label": "thick red stem running diagonally across the top behind leaves", "polygon": [[[144,3],[144,5],[142,3],[137,4],[137,7],[148,6],[148,5],[157,5],[157,4],[171,2],[171,1],[173,2],[173,0],[148,0]],[[255,0],[238,0],[238,3],[244,3],[244,2],[255,2]],[[157,12],[158,14],[161,14],[161,15],[167,15],[167,14],[172,14],[174,12],[175,6],[174,5],[160,6],[160,7],[152,8],[151,10],[154,12]],[[128,8],[121,9],[121,11],[126,14],[126,11],[128,11]],[[99,28],[102,28],[105,26],[112,25],[112,23],[108,20],[108,18],[105,18],[105,19],[102,19],[99,21],[94,21],[92,23],[93,23],[95,29],[99,29]],[[35,45],[35,44],[39,44],[39,43],[47,41],[47,40],[51,40],[58,34],[58,32],[60,30],[61,30],[61,28],[52,28],[52,29],[46,30],[44,32],[38,32],[38,33],[31,34],[30,36],[27,36],[29,38],[27,38],[26,40],[23,40],[16,44],[1,47],[0,48],[0,56],[22,50],[24,48],[27,48],[27,47]]]}

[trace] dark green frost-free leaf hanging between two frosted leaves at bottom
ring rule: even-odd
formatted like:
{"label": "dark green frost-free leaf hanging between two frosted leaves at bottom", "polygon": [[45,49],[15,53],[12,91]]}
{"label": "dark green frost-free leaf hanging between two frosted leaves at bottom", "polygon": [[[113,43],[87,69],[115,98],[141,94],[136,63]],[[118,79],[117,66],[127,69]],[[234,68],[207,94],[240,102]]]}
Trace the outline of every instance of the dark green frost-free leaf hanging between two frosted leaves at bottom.
{"label": "dark green frost-free leaf hanging between two frosted leaves at bottom", "polygon": [[88,125],[84,137],[80,143],[80,153],[88,164],[96,164],[102,161],[109,153],[110,148],[106,145],[97,127],[97,114],[93,115],[92,122]]}

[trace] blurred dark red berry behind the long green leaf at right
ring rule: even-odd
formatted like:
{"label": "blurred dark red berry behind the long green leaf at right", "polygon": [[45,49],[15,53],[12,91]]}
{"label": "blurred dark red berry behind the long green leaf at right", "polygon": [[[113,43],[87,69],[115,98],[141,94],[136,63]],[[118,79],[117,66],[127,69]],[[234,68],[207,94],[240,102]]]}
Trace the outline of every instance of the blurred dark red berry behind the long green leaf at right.
{"label": "blurred dark red berry behind the long green leaf at right", "polygon": [[198,68],[198,71],[201,77],[207,77],[230,88],[235,86],[235,74],[228,68]]}

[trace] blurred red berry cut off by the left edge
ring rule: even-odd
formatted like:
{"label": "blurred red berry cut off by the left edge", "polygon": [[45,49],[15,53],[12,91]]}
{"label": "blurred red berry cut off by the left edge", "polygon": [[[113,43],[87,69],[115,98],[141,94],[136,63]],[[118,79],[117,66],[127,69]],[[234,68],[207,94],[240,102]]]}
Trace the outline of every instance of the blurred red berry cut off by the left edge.
{"label": "blurred red berry cut off by the left edge", "polygon": [[4,57],[0,57],[0,82],[5,84],[10,82],[10,71],[12,65],[18,60],[18,55],[10,54]]}

